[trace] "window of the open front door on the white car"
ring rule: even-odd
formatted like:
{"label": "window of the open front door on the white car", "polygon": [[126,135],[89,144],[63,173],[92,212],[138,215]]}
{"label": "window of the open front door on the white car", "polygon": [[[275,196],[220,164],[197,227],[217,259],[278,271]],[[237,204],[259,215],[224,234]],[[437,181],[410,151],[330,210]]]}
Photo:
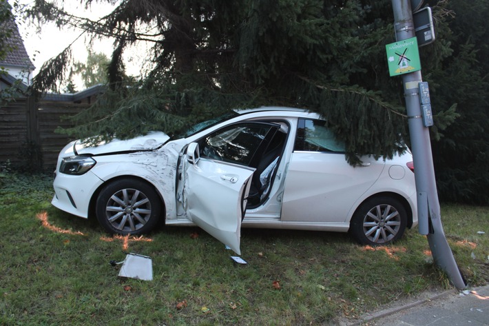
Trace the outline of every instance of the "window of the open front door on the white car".
{"label": "window of the open front door on the white car", "polygon": [[253,155],[272,128],[269,123],[237,123],[209,134],[202,141],[200,156],[250,165]]}

